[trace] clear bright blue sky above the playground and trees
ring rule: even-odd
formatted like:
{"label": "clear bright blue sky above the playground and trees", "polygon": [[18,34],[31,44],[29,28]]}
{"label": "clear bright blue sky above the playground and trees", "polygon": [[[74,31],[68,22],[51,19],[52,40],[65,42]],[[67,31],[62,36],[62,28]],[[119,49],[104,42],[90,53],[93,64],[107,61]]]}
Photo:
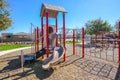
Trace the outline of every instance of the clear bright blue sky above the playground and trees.
{"label": "clear bright blue sky above the playground and trees", "polygon": [[[120,19],[120,0],[8,0],[13,25],[3,32],[30,32],[30,23],[41,27],[40,10],[42,3],[61,6],[66,14],[66,27],[81,28],[89,20],[101,18],[111,25]],[[45,19],[44,19],[45,24]],[[55,19],[49,19],[55,24]],[[62,13],[58,15],[58,27],[62,27]]]}

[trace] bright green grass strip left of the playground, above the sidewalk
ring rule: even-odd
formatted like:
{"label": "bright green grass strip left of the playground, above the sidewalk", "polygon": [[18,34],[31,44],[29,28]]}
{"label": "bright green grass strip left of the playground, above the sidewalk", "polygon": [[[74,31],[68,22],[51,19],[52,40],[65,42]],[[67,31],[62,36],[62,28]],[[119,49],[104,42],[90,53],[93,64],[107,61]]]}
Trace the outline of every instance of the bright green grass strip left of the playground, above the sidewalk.
{"label": "bright green grass strip left of the playground, above the sidewalk", "polygon": [[31,46],[31,44],[3,44],[0,45],[0,51],[29,47],[29,46]]}

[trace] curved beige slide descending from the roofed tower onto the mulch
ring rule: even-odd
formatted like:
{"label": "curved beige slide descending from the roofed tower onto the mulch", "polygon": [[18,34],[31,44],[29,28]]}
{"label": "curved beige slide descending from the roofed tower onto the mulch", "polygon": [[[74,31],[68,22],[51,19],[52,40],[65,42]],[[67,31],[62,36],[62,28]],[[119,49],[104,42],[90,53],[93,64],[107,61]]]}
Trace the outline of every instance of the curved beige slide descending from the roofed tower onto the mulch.
{"label": "curved beige slide descending from the roofed tower onto the mulch", "polygon": [[47,70],[51,67],[51,65],[53,65],[54,63],[57,63],[60,61],[61,58],[63,58],[64,55],[64,48],[62,46],[60,47],[55,47],[53,54],[47,58],[43,64],[42,64],[42,68],[44,70]]}

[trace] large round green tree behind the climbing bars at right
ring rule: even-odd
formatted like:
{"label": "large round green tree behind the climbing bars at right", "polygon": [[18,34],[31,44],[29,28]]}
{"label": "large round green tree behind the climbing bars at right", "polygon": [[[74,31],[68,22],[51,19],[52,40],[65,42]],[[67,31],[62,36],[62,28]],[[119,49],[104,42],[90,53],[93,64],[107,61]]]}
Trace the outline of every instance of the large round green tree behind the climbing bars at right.
{"label": "large round green tree behind the climbing bars at right", "polygon": [[97,31],[109,32],[112,29],[111,25],[107,21],[103,21],[100,18],[88,21],[85,26],[85,33],[90,35],[95,34]]}

